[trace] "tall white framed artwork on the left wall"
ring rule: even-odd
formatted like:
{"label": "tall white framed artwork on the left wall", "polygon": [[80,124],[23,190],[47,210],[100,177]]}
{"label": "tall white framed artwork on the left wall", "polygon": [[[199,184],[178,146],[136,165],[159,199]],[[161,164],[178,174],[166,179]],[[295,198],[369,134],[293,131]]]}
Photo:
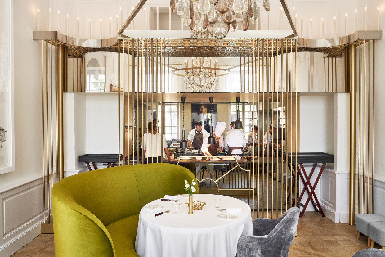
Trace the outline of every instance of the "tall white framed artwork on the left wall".
{"label": "tall white framed artwork on the left wall", "polygon": [[0,1],[0,174],[15,170],[12,1]]}

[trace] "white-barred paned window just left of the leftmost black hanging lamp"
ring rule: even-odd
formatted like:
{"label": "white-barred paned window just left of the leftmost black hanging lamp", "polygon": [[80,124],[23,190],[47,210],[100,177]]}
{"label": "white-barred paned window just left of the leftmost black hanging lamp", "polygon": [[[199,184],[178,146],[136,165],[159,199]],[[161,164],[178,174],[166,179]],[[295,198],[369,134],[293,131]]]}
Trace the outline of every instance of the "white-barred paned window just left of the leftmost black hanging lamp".
{"label": "white-barred paned window just left of the leftmost black hanging lamp", "polygon": [[164,135],[166,140],[178,139],[178,104],[164,104]]}

